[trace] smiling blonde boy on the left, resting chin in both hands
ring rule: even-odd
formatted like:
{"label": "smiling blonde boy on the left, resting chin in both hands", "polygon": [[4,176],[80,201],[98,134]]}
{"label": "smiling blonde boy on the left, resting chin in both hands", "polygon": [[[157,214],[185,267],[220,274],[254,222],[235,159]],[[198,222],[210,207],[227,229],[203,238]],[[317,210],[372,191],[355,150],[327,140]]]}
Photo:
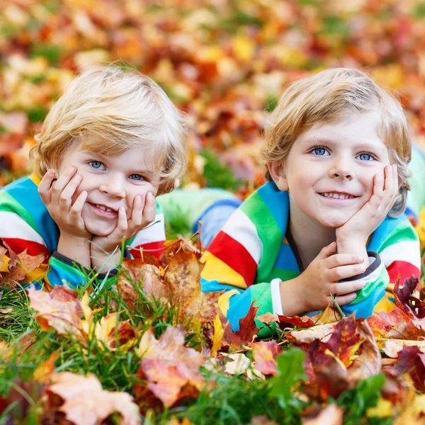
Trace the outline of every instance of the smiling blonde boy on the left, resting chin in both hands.
{"label": "smiling blonde boy on the left, resting chin in both hands", "polygon": [[155,196],[174,188],[187,147],[182,117],[154,81],[115,66],[89,69],[36,140],[34,174],[0,191],[0,237],[16,253],[45,256],[24,282],[75,287],[92,271],[113,276],[123,238],[133,256],[159,255]]}

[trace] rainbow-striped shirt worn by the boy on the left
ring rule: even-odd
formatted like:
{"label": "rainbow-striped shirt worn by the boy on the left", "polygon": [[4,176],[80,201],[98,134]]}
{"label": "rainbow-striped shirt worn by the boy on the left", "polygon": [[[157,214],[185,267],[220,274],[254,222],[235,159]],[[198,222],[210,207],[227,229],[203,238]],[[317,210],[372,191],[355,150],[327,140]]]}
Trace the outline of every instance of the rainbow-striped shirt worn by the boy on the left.
{"label": "rainbow-striped shirt worn by the boy on the left", "polygon": [[[0,238],[16,254],[26,249],[32,256],[43,254],[45,257],[22,283],[35,282],[38,288],[42,281],[47,288],[64,283],[77,287],[86,282],[86,275],[90,276],[91,271],[56,251],[60,231],[38,194],[40,180],[32,174],[0,189]],[[126,241],[126,246],[129,255],[135,258],[140,258],[140,249],[159,256],[164,241],[164,215],[157,205],[155,221]],[[109,271],[108,276],[115,273],[116,269]],[[104,277],[105,273],[98,275],[98,278]]]}

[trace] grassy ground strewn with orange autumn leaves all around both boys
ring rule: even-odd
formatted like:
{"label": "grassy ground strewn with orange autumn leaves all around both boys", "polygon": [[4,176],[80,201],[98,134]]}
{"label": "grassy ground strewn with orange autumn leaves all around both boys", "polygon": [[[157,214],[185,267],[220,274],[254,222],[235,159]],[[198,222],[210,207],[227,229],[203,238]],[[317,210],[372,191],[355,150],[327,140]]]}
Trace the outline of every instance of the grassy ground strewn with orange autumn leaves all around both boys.
{"label": "grassy ground strewn with orange autumn leaves all around both boys", "polygon": [[[182,186],[243,199],[261,185],[255,158],[278,95],[325,67],[361,67],[396,90],[425,145],[424,38],[425,4],[413,0],[3,0],[0,186],[28,174],[52,101],[97,61],[140,69],[188,113]],[[187,230],[168,225],[170,237]],[[170,241],[159,262],[123,261],[109,288],[45,293],[16,283],[40,259],[0,244],[0,423],[425,423],[414,280],[390,314],[254,322],[251,307],[233,333],[217,295],[200,293],[199,256]]]}

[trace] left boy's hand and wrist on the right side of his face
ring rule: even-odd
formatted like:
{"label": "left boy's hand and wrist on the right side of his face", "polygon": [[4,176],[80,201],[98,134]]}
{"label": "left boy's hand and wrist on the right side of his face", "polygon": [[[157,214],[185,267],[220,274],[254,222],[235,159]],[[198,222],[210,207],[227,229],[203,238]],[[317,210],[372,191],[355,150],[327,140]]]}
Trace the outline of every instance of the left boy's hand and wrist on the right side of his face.
{"label": "left boy's hand and wrist on the right side of his face", "polygon": [[[140,232],[144,227],[149,225],[155,220],[157,215],[157,204],[152,193],[148,192],[145,200],[142,200],[142,196],[137,195],[133,201],[132,211],[130,220],[127,221],[127,215],[125,214],[125,208],[120,207],[118,210],[118,225],[115,227],[113,232],[107,236],[94,236],[91,239],[91,256],[92,264],[96,268],[103,264],[102,259],[106,259],[105,251],[109,255],[115,250],[117,246],[121,246],[123,238],[130,239],[137,232]],[[118,253],[115,254],[113,261],[114,265],[118,264],[120,256]]]}

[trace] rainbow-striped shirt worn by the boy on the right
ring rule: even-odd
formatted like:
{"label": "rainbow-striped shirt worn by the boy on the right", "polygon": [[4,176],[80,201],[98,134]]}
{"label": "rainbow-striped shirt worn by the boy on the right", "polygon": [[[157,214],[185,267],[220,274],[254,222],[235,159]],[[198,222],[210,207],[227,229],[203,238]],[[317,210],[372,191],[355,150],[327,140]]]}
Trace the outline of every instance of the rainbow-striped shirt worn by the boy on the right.
{"label": "rainbow-striped shirt worn by the boy on the right", "polygon": [[[287,234],[288,192],[269,182],[249,196],[229,218],[201,261],[203,292],[225,290],[219,305],[232,329],[256,300],[257,316],[282,312],[279,283],[302,272],[295,244]],[[288,240],[289,239],[289,240]],[[292,243],[291,243],[292,242]],[[419,278],[421,263],[419,239],[405,215],[385,218],[370,235],[366,246],[370,266],[350,280],[365,280],[356,300],[344,305],[344,313],[369,317],[374,311],[391,311],[391,289],[397,276],[400,282],[414,275]],[[315,314],[317,312],[306,312]]]}

